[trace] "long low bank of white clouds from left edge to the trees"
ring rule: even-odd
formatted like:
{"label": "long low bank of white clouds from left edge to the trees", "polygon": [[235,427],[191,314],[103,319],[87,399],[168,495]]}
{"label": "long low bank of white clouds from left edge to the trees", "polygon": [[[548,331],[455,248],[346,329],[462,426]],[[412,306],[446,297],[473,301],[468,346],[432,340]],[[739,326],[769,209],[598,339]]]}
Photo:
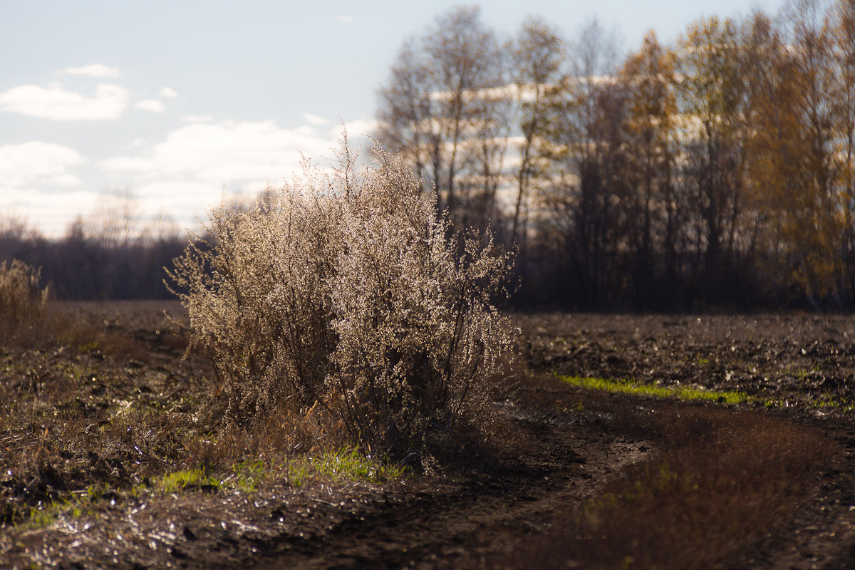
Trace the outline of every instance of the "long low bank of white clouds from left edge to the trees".
{"label": "long low bank of white clouds from left edge to the trees", "polygon": [[[197,218],[206,219],[205,210],[223,197],[254,197],[268,185],[279,187],[290,180],[301,171],[301,153],[324,167],[341,126],[321,126],[314,115],[304,118],[302,126],[282,128],[273,120],[195,117],[205,122],[185,123],[156,144],[137,139],[123,155],[97,161],[94,167],[59,144],[0,146],[0,209],[20,211],[45,235],[62,237],[75,215],[88,214],[97,204],[97,190],[129,187],[145,215],[165,211],[181,227],[195,227]],[[355,145],[374,121],[345,126]],[[77,177],[85,173],[97,183],[84,186]]]}

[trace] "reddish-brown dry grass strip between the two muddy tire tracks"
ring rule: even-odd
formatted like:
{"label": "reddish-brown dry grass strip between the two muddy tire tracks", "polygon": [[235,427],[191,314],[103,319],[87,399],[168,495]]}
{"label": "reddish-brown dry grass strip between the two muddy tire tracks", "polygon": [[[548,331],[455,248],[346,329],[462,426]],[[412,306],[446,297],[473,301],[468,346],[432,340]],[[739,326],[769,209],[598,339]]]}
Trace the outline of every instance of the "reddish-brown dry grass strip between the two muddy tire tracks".
{"label": "reddish-brown dry grass strip between the two muddy tire tracks", "polygon": [[659,452],[557,519],[510,566],[745,566],[760,540],[785,530],[834,455],[811,428],[756,413],[663,404],[624,414],[623,428],[657,436]]}

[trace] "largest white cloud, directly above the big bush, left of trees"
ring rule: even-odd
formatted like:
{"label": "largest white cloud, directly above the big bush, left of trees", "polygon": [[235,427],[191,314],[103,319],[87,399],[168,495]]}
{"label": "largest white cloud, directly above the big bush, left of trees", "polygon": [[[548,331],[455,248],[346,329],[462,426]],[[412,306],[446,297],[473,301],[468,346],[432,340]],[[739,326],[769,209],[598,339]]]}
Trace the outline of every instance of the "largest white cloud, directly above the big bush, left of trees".
{"label": "largest white cloud, directly above the big bush, left of trees", "polygon": [[[182,227],[196,226],[196,219],[206,219],[206,209],[223,197],[255,197],[268,185],[279,187],[292,179],[301,172],[301,153],[323,166],[324,159],[333,156],[341,129],[309,124],[281,128],[273,120],[194,119],[209,122],[180,126],[157,144],[142,144],[96,167],[110,184],[129,185],[147,211],[167,211]],[[351,144],[373,124],[348,123]]]}

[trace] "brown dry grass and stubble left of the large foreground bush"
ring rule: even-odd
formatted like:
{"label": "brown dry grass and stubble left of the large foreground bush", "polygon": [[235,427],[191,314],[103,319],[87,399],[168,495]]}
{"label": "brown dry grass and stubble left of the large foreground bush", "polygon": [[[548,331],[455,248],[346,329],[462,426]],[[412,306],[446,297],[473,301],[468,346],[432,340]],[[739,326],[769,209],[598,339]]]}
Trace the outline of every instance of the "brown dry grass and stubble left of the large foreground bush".
{"label": "brown dry grass and stubble left of the large foreground bush", "polygon": [[[10,309],[30,319],[17,327],[27,334],[0,344],[3,525],[87,489],[131,490],[182,460],[184,442],[209,429],[192,412],[210,387],[180,365],[182,341],[162,311],[147,311],[162,329],[151,332],[152,347],[130,318],[50,302],[37,279],[30,287],[35,307]],[[169,367],[145,364],[161,353]]]}

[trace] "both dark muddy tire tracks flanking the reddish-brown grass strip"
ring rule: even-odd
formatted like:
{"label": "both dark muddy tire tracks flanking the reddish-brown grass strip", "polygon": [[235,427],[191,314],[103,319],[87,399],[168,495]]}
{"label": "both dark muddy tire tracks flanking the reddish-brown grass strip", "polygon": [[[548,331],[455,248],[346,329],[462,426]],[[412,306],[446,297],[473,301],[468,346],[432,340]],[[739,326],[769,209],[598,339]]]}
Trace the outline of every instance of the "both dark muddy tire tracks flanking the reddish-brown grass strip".
{"label": "both dark muddy tire tracks flanking the reddish-brown grass strip", "polygon": [[[541,397],[544,392],[567,396],[562,389],[534,391]],[[622,400],[623,406],[634,409],[647,405],[632,398],[604,399]],[[299,544],[282,538],[263,545],[247,567],[492,567],[503,553],[524,551],[533,537],[548,533],[556,514],[596,496],[623,467],[652,456],[654,444],[634,437],[608,412],[575,414],[538,407],[511,415],[530,441],[518,467],[374,502],[324,536]],[[838,429],[826,426],[821,431],[834,438]],[[837,467],[817,473],[822,481],[816,492],[805,497],[803,510],[788,523],[790,538],[777,534],[768,544],[747,550],[746,567],[852,567],[855,514],[844,503],[855,489],[855,438],[843,439],[846,450]]]}

